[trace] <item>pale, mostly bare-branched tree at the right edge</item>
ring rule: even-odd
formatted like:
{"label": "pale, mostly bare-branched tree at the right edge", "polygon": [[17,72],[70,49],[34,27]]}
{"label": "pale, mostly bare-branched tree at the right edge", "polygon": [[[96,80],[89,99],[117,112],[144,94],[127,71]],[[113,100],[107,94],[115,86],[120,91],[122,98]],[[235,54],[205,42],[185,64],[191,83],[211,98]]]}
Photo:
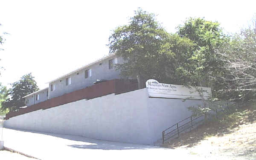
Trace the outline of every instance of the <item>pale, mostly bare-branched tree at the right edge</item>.
{"label": "pale, mostly bare-branched tree at the right edge", "polygon": [[230,99],[256,99],[256,17],[218,52],[227,70],[222,78]]}

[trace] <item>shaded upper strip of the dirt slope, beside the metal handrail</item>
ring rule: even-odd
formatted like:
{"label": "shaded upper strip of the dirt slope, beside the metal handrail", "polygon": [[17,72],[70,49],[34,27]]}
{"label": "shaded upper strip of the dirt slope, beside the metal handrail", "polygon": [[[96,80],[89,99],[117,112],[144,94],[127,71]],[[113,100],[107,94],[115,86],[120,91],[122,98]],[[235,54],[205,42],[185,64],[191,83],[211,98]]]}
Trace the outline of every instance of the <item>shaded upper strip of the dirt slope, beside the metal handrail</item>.
{"label": "shaded upper strip of the dirt slope, beside the metal handrail", "polygon": [[184,146],[189,148],[198,145],[206,137],[222,137],[224,134],[233,133],[239,125],[256,122],[256,105],[246,105],[239,109],[228,111],[221,119],[208,121],[194,130],[180,134],[179,138],[170,140],[162,144],[162,147],[177,148]]}

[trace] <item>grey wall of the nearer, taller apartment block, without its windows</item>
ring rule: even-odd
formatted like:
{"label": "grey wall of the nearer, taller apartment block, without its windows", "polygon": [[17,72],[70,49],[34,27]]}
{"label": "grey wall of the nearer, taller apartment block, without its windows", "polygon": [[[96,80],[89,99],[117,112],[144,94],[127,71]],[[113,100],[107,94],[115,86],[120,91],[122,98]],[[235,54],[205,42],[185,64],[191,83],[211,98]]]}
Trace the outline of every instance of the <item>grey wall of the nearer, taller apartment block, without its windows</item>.
{"label": "grey wall of the nearer, taller apartment block, without its windows", "polygon": [[[70,76],[64,77],[63,79],[59,79],[58,81],[49,83],[49,90],[51,84],[55,84],[55,90],[49,91],[49,99],[54,98],[56,96],[61,96],[65,93],[70,93],[75,90],[79,90],[88,86],[93,85],[93,82],[97,79],[120,79],[119,72],[115,70],[115,68],[109,69],[108,61],[110,59],[115,58],[116,56],[112,56],[108,59],[100,61],[99,63],[93,64],[88,68],[83,70],[79,70],[79,72],[73,73]],[[118,63],[122,63],[123,60],[121,57],[117,58]],[[99,65],[102,63],[102,65]],[[84,71],[92,69],[92,75],[88,78],[84,78]],[[78,74],[77,74],[78,73]],[[66,78],[71,77],[71,84],[66,85]]]}

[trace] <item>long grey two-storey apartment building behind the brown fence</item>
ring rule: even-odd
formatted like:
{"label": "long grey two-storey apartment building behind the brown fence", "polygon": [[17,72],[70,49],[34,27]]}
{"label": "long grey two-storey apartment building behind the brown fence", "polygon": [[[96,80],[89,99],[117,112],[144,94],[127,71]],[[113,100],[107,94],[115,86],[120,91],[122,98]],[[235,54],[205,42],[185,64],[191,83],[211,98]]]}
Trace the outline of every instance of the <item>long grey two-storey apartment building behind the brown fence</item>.
{"label": "long grey two-storey apartment building behind the brown fence", "polygon": [[47,99],[91,86],[97,79],[120,79],[119,71],[116,71],[114,64],[122,63],[122,57],[112,54],[49,81],[49,87],[23,97],[26,106],[35,105]]}

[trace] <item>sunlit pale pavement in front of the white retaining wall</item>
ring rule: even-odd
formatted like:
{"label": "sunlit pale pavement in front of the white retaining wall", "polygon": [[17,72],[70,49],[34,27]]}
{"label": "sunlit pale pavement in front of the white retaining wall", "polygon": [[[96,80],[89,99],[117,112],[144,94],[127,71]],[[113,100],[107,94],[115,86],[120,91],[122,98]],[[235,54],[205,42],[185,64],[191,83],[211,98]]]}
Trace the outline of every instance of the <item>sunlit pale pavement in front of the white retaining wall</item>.
{"label": "sunlit pale pavement in front of the white retaining wall", "polygon": [[[203,160],[186,149],[167,149],[154,145],[139,145],[95,140],[81,136],[50,134],[4,128],[4,146],[41,160],[144,160],[188,159]],[[1,155],[0,155],[1,157]],[[207,160],[221,160],[207,157]]]}

